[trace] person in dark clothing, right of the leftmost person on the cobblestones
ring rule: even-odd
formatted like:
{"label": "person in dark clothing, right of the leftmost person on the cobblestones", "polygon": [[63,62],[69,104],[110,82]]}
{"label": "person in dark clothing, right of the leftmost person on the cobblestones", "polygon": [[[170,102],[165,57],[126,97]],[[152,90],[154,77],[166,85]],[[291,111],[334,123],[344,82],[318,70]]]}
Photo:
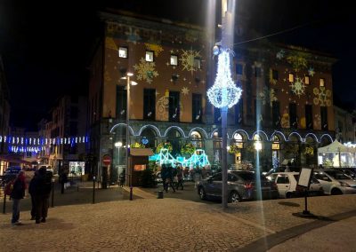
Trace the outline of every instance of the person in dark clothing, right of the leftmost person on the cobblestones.
{"label": "person in dark clothing, right of the leftmost person on the cobblestones", "polygon": [[38,169],[38,175],[34,181],[36,224],[45,223],[48,213],[49,197],[52,191],[52,173],[45,167]]}

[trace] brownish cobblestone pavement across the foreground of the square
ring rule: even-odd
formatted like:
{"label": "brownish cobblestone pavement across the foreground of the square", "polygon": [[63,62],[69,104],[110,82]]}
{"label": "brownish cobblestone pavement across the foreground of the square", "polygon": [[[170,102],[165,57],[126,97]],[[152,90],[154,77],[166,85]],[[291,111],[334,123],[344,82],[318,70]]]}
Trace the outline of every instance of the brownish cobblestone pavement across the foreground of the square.
{"label": "brownish cobblestone pavement across the foreground of the square", "polygon": [[[309,210],[320,219],[355,210],[355,203],[356,195],[308,200]],[[10,224],[10,213],[0,215],[0,244],[1,251],[237,250],[263,237],[316,222],[295,215],[303,208],[301,198],[240,202],[223,211],[219,203],[156,199],[152,193],[134,188],[134,201],[122,198],[49,209],[45,224],[30,221],[28,210],[21,212],[20,226]]]}

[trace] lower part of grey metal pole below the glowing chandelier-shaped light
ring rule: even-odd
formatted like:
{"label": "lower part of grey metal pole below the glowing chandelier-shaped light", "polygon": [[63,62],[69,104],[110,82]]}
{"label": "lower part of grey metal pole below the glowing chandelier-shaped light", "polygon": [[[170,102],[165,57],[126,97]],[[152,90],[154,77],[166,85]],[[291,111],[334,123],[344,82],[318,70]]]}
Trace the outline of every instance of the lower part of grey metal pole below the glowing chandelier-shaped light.
{"label": "lower part of grey metal pole below the glowing chandelier-shaped light", "polygon": [[223,200],[223,209],[228,207],[228,168],[227,168],[227,113],[228,108],[226,106],[222,107],[222,174],[223,174],[223,187],[222,187],[222,200]]}

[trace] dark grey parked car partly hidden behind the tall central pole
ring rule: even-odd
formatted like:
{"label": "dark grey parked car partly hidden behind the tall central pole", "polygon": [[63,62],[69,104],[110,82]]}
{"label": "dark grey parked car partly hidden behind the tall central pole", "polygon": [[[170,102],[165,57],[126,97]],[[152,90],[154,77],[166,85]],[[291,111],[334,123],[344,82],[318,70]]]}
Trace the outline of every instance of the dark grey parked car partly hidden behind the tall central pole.
{"label": "dark grey parked car partly hidden behind the tall central pole", "polygon": [[[257,175],[258,176],[258,175]],[[259,177],[261,181],[261,194],[257,190],[256,175],[247,170],[229,170],[228,171],[228,201],[239,202],[242,200],[259,199],[278,199],[279,193],[277,185],[269,181],[266,177]],[[198,195],[201,200],[209,198],[222,198],[222,180],[221,172],[211,177],[202,179],[198,183]]]}

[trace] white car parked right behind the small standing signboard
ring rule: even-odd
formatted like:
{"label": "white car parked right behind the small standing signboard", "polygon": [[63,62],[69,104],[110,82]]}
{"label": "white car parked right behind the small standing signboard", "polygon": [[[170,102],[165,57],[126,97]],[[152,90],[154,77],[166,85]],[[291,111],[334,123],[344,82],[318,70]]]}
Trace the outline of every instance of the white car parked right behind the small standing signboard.
{"label": "white car parked right behind the small standing signboard", "polygon": [[[303,196],[302,188],[298,187],[299,172],[275,172],[267,178],[277,184],[280,198],[292,198]],[[321,183],[312,177],[311,185],[309,186],[308,195],[323,195],[324,190]]]}

